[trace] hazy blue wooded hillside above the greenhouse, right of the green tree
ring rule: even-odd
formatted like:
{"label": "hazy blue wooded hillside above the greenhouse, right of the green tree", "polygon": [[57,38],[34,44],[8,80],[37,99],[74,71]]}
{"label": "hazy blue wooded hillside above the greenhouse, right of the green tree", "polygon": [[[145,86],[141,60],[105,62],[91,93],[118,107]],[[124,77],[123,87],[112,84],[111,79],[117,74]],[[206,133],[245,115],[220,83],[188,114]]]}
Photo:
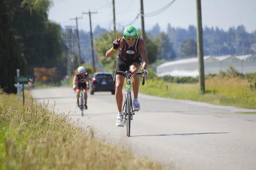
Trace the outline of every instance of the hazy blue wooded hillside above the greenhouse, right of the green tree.
{"label": "hazy blue wooded hillside above the greenhouse, right of the green tree", "polygon": [[[175,28],[168,23],[166,32],[160,31],[157,23],[148,35],[162,37],[168,47],[164,47],[166,54],[161,58],[175,59],[176,57],[195,57],[196,48],[196,27],[190,25],[186,28]],[[224,31],[219,27],[205,26],[203,29],[204,55],[244,55],[256,53],[256,31],[249,33],[243,25],[230,27]]]}

